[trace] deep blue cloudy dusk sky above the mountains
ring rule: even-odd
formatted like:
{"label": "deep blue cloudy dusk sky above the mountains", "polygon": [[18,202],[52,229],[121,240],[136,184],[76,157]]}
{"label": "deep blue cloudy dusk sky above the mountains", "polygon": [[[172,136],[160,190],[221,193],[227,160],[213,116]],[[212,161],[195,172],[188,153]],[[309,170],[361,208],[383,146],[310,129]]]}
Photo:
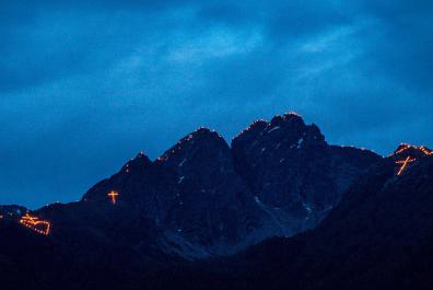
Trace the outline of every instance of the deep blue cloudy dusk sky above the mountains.
{"label": "deep blue cloudy dusk sky above the mountains", "polygon": [[2,0],[0,204],[291,111],[331,143],[433,147],[432,51],[433,1]]}

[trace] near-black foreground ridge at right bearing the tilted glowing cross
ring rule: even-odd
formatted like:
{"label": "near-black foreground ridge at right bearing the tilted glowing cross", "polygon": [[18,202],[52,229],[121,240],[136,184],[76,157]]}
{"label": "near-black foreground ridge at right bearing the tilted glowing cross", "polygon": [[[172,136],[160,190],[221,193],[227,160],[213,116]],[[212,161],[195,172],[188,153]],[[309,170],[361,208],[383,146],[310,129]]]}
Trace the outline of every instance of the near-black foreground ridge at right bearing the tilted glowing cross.
{"label": "near-black foreground ridge at right bearing the tilted glowing cross", "polygon": [[[398,174],[400,161],[408,156],[416,160]],[[291,239],[271,239],[234,257],[192,267],[171,286],[432,289],[432,151],[401,146],[356,178],[316,229]]]}

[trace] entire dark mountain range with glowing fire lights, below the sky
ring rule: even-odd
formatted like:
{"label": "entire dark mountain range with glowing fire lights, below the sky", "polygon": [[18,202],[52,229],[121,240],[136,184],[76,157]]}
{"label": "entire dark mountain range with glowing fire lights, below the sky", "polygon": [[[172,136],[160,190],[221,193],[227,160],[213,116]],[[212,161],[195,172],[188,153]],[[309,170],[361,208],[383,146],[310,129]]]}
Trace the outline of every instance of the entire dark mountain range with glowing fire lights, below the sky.
{"label": "entire dark mountain range with glowing fire lights, below the sky", "polygon": [[383,158],[328,144],[294,113],[253,123],[230,146],[199,128],[78,202],[1,206],[0,285],[423,289],[432,160],[424,147]]}

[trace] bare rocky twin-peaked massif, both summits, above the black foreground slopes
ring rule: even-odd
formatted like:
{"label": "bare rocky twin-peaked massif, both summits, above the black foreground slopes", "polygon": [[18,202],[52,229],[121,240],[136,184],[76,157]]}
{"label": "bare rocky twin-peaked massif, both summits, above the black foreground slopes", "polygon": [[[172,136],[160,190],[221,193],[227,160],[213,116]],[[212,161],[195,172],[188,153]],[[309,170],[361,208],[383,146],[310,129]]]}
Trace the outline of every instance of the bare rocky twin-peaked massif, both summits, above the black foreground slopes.
{"label": "bare rocky twin-peaked massif, both summits, above the black foreground slopes", "polygon": [[259,120],[232,148],[199,128],[156,161],[143,153],[89,190],[82,202],[151,220],[162,247],[184,257],[227,255],[270,236],[314,228],[350,182],[381,158],[329,146],[295,114]]}

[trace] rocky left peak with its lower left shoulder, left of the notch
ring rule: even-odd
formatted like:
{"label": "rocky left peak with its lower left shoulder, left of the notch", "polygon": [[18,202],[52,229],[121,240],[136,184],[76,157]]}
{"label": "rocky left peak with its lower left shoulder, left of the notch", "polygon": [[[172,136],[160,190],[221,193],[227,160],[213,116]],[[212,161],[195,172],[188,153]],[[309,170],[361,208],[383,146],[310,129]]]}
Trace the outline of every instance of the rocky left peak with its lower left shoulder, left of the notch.
{"label": "rocky left peak with its lower left shoulder, left of the notch", "polygon": [[282,234],[235,172],[231,149],[214,131],[200,128],[155,162],[139,154],[119,173],[95,185],[82,202],[116,207],[152,220],[161,246],[184,257],[226,255]]}

